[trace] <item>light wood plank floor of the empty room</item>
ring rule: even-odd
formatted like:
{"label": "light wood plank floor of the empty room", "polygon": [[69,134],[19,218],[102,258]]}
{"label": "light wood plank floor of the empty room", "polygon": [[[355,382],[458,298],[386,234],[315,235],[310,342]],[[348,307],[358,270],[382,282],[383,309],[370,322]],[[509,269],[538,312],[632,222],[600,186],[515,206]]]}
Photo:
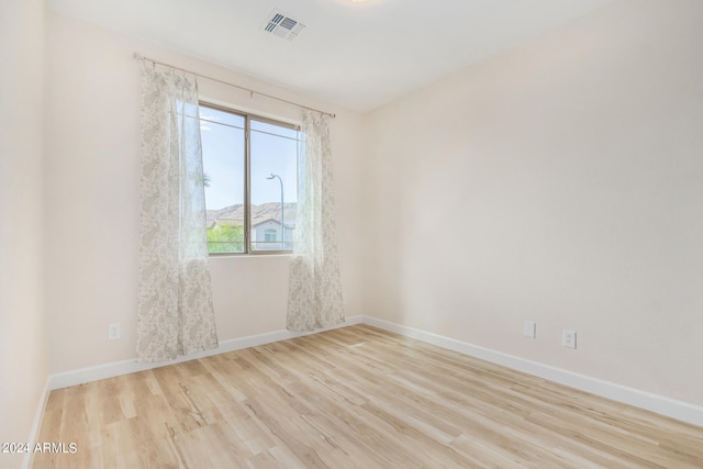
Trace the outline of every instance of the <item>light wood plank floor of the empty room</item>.
{"label": "light wood plank floor of the empty room", "polygon": [[34,468],[700,468],[703,428],[370,326],[53,391]]}

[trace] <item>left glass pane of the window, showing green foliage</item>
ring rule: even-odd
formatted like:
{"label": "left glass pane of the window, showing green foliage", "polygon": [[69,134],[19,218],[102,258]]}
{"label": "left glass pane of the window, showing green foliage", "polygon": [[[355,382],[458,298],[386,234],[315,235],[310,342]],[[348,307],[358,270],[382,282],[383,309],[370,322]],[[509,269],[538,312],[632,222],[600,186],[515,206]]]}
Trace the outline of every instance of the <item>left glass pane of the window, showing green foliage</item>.
{"label": "left glass pane of the window, showing green foliage", "polygon": [[245,119],[200,107],[210,253],[244,253]]}

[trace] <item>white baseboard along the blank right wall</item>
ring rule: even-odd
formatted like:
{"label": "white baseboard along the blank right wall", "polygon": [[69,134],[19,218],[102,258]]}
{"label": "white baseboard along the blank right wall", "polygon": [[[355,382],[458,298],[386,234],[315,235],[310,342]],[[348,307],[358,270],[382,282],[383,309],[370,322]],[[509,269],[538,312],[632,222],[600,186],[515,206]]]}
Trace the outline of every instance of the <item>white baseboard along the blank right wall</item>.
{"label": "white baseboard along the blank right wall", "polygon": [[640,391],[638,389],[628,388],[614,382],[579,375],[572,371],[551,367],[549,365],[527,360],[513,355],[503,354],[501,351],[491,350],[489,348],[394,324],[388,321],[377,320],[375,317],[364,316],[362,322],[370,326],[394,332],[405,337],[415,338],[427,344],[448,348],[464,355],[502,365],[504,367],[537,376],[549,381],[555,381],[570,388],[590,392],[591,394],[601,395],[613,401],[634,405],[639,409],[645,409],[647,411],[656,412],[661,415],[703,427],[703,407],[700,405],[689,404],[688,402],[677,401],[674,399],[652,394],[650,392]]}

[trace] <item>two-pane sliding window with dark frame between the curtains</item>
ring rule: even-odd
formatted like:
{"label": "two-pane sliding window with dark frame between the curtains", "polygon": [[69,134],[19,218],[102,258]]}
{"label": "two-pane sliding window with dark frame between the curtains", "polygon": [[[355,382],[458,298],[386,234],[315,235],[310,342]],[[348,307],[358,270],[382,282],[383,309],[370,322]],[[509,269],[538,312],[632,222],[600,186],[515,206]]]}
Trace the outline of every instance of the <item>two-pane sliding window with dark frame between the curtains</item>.
{"label": "two-pane sliding window with dark frame between the curtains", "polygon": [[300,129],[201,103],[200,130],[210,254],[290,252]]}

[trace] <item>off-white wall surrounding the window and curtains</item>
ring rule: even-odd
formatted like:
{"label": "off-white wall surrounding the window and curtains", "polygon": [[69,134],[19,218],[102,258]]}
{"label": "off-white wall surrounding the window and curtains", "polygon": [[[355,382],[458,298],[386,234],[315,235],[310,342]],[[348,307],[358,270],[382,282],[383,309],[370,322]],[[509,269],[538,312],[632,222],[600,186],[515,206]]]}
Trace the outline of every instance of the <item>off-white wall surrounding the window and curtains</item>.
{"label": "off-white wall surrounding the window and curtains", "polygon": [[[47,34],[51,373],[135,356],[141,65],[134,52],[337,113],[331,133],[342,281],[347,314],[359,314],[357,114],[55,13]],[[210,102],[299,120],[294,107],[205,80],[200,93]],[[221,340],[286,328],[288,256],[217,257],[211,264]],[[107,339],[110,323],[122,324],[122,339]]]}

